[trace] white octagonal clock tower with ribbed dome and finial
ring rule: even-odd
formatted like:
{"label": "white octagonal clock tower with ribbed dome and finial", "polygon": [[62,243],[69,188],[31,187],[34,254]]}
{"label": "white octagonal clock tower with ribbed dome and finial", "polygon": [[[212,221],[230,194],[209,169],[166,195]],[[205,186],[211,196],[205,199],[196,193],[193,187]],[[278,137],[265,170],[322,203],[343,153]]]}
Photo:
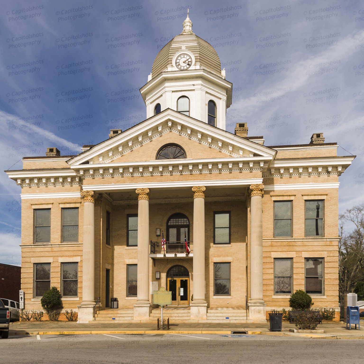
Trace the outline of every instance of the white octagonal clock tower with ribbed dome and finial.
{"label": "white octagonal clock tower with ribbed dome and finial", "polygon": [[187,14],[182,33],[159,51],[140,92],[147,118],[171,108],[225,130],[232,86],[225,80],[217,52],[193,33]]}

